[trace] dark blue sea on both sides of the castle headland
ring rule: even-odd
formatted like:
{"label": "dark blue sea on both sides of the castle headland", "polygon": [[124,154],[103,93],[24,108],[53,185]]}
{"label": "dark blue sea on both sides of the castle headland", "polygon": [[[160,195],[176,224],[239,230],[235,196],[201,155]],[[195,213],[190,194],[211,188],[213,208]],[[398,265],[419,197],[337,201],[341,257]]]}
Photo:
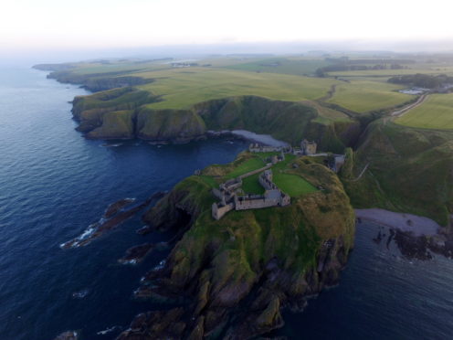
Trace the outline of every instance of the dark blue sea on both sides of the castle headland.
{"label": "dark blue sea on both sides of the castle headland", "polygon": [[[154,251],[137,266],[117,264],[132,245],[165,239],[137,235],[140,216],[87,247],[58,245],[98,221],[112,202],[140,202],[196,169],[230,162],[247,146],[227,140],[102,146],[74,131],[68,101],[85,93],[47,80],[45,72],[0,68],[0,340],[47,340],[66,330],[111,339],[135,314],[157,308],[131,297],[166,252]],[[312,299],[304,313],[285,312],[278,335],[453,338],[453,262],[406,260],[395,247],[374,243],[377,230],[358,226],[341,284]]]}

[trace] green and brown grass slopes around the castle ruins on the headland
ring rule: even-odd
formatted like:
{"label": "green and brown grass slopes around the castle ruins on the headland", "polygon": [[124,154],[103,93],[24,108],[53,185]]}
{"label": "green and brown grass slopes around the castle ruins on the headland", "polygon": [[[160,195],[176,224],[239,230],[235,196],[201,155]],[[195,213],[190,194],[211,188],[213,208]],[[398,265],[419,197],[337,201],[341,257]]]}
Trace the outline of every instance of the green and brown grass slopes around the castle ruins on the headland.
{"label": "green and brown grass slopes around the castle ruins on the headland", "polygon": [[[232,285],[238,290],[233,300],[242,299],[258,282],[263,263],[271,259],[279,259],[297,281],[317,266],[323,241],[342,238],[347,250],[353,246],[353,209],[341,182],[325,166],[306,158],[291,160],[289,163],[299,167],[292,169],[291,177],[282,181],[290,183],[290,178],[295,178],[292,176],[298,176],[310,182],[309,186],[322,185],[324,190],[293,197],[288,207],[232,211],[214,220],[211,204],[215,198],[210,192],[213,181],[206,178],[214,176],[219,182],[219,178],[227,176],[231,170],[249,164],[250,159],[254,159],[254,155],[240,154],[230,165],[210,166],[202,176],[186,178],[145,217],[155,227],[166,228],[166,218],[173,214],[175,206],[195,214],[192,228],[170,255],[171,278],[184,285],[200,271],[206,271],[201,274],[201,280],[210,282],[214,300],[219,298],[215,295]],[[210,252],[209,266],[205,265],[206,251]],[[304,288],[294,286],[293,289]]]}

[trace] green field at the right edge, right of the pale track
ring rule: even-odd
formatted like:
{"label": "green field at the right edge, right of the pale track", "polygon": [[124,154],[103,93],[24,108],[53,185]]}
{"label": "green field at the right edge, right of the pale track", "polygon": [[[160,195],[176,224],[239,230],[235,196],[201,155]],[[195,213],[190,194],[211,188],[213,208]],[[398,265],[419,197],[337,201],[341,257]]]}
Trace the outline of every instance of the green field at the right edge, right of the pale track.
{"label": "green field at the right edge, right of the pale track", "polygon": [[453,93],[431,94],[395,122],[416,128],[453,129]]}

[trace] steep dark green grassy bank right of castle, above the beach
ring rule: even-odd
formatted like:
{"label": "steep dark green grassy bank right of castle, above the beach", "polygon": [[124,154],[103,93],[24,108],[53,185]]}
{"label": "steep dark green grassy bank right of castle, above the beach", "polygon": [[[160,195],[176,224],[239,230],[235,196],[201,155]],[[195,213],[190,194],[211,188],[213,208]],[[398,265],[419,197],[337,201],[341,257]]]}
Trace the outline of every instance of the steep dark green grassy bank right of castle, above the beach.
{"label": "steep dark green grassy bank right of castle, above the beach", "polygon": [[383,207],[448,225],[453,212],[453,133],[384,119],[368,126],[359,145],[342,169],[354,207]]}

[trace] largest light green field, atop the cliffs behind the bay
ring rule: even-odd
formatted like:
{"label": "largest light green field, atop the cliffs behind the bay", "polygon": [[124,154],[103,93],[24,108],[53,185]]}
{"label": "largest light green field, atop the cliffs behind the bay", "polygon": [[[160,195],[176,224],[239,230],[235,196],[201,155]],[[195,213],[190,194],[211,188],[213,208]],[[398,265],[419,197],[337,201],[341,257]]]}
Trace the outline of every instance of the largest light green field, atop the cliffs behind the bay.
{"label": "largest light green field, atop the cliffs behind the bay", "polygon": [[234,69],[190,68],[133,73],[153,78],[139,88],[161,96],[152,109],[189,109],[203,101],[255,95],[271,100],[304,101],[323,97],[338,80]]}

